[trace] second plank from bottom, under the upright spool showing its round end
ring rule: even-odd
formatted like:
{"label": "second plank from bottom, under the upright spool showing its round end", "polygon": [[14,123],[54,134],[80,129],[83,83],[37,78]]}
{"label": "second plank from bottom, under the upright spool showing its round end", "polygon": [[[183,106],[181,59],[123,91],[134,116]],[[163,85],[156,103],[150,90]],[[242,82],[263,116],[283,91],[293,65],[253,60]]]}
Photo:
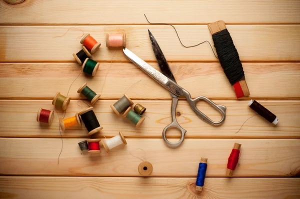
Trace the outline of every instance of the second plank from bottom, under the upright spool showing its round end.
{"label": "second plank from bottom, under the upright spool showing its round end", "polygon": [[[81,153],[82,138],[0,138],[4,175],[140,176],[140,159],[153,165],[151,176],[195,177],[200,157],[208,158],[206,176],[225,176],[234,142],[242,145],[234,176],[293,176],[300,171],[299,139],[185,139],[178,148],[162,139],[127,138],[110,153]],[[174,140],[172,140],[174,141]],[[133,155],[137,156],[134,157]]]}

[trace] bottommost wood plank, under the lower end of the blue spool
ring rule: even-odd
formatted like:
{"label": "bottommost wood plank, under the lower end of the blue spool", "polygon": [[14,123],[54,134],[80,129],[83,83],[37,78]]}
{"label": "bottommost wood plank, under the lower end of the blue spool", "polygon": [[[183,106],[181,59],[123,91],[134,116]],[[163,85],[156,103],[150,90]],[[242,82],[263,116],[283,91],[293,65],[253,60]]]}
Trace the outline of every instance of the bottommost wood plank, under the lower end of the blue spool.
{"label": "bottommost wood plank, under the lower end of the blue spool", "polygon": [[[1,176],[1,198],[298,198],[300,178]],[[280,188],[279,188],[280,187]]]}

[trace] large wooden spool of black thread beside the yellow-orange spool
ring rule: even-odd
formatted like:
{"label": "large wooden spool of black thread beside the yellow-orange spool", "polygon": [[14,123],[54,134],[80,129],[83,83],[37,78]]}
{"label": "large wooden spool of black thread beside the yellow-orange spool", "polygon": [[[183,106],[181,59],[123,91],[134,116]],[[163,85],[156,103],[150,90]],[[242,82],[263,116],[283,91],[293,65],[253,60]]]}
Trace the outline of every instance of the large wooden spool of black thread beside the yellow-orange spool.
{"label": "large wooden spool of black thread beside the yellow-orange spool", "polygon": [[89,107],[78,113],[86,129],[88,130],[88,135],[94,134],[103,128],[102,126],[100,126],[99,121],[92,108],[93,107]]}

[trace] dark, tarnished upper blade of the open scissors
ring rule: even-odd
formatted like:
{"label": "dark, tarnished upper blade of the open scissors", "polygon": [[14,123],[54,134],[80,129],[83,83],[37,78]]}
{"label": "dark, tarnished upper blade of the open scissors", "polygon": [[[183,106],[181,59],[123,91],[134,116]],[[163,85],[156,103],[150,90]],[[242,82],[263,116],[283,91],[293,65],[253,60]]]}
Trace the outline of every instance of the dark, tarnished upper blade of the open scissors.
{"label": "dark, tarnished upper blade of the open scissors", "polygon": [[150,32],[150,30],[148,29],[148,33],[149,33],[149,37],[150,37],[150,41],[152,44],[152,48],[153,48],[153,52],[155,54],[155,58],[156,61],[159,65],[160,71],[162,72],[162,74],[164,74],[166,77],[168,77],[169,79],[171,79],[172,81],[176,82],[175,77],[156,41],[156,39],[154,38],[153,34]]}

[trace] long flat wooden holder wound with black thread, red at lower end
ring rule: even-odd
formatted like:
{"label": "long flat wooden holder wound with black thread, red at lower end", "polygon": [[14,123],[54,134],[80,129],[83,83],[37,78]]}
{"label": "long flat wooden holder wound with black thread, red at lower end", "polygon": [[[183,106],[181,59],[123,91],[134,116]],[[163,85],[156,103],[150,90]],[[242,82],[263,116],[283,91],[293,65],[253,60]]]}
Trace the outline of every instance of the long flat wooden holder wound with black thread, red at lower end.
{"label": "long flat wooden holder wound with black thread, red at lower end", "polygon": [[[225,22],[218,20],[208,24],[208,28],[211,32],[221,66],[230,84],[233,86],[236,97],[249,96],[250,92],[245,81],[244,71],[232,38],[226,29]],[[229,49],[231,51],[226,52]]]}

